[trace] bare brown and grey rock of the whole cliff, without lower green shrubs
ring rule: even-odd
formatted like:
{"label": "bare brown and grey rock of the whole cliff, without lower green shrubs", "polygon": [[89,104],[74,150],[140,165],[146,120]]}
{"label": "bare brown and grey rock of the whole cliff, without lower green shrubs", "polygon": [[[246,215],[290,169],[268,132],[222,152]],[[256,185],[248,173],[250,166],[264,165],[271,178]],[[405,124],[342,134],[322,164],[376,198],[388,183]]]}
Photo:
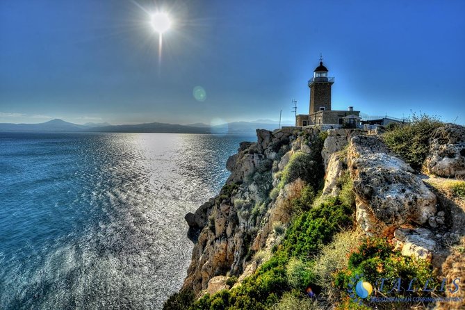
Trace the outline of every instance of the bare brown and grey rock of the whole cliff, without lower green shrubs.
{"label": "bare brown and grey rock of the whole cliff, without lower green shrubs", "polygon": [[338,197],[344,175],[353,183],[355,225],[368,238],[385,238],[404,256],[432,261],[439,275],[463,275],[448,256],[457,255],[450,245],[465,236],[465,204],[439,177],[465,174],[464,127],[436,129],[429,148],[425,175],[377,134],[257,130],[257,142],[241,143],[227,161],[231,175],[220,195],[186,215],[195,247],[183,290],[199,297],[240,286],[282,243],[302,190]]}

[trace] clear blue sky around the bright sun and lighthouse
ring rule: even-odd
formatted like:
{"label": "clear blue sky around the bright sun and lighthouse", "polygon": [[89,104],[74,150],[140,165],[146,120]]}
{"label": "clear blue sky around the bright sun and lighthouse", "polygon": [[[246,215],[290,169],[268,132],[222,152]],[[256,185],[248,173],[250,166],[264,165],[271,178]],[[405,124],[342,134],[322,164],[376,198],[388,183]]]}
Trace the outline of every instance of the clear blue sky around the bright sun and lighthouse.
{"label": "clear blue sky around the bright sun and lighthouse", "polygon": [[0,122],[293,122],[323,54],[334,110],[465,124],[464,16],[463,0],[0,1]]}

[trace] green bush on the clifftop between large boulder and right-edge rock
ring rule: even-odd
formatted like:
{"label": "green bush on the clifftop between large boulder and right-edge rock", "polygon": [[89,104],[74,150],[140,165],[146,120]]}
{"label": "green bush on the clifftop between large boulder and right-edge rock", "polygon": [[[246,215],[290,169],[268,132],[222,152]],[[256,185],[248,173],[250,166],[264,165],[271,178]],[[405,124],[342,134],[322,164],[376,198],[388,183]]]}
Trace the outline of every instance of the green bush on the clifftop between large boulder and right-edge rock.
{"label": "green bush on the clifftop between large boulder and right-edge rock", "polygon": [[383,140],[393,152],[399,154],[415,170],[421,170],[429,150],[430,136],[443,123],[434,116],[413,115],[403,126],[388,127]]}

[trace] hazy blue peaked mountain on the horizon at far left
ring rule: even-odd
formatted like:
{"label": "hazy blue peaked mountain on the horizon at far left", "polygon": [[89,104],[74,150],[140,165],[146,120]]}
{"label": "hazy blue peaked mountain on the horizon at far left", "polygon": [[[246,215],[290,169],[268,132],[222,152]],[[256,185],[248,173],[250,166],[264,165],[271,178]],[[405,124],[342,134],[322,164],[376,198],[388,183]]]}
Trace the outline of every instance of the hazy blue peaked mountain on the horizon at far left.
{"label": "hazy blue peaked mountain on the horizon at far left", "polygon": [[65,122],[56,118],[55,120],[49,120],[48,122],[39,124],[0,124],[0,131],[85,131],[88,129],[84,125],[73,124]]}

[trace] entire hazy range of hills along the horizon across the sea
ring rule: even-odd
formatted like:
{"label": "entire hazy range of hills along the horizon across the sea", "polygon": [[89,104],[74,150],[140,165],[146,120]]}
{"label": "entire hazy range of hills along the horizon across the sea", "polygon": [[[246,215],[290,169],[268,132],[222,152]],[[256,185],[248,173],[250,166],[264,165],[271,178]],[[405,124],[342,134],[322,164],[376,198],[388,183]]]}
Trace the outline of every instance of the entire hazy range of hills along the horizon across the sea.
{"label": "entire hazy range of hills along the horizon across the sea", "polygon": [[[283,124],[283,126],[286,126]],[[55,132],[140,132],[140,133],[220,133],[220,134],[254,134],[256,129],[278,128],[277,123],[268,122],[231,122],[218,126],[195,123],[190,125],[145,123],[134,125],[111,125],[108,123],[86,123],[84,125],[65,122],[64,120],[51,120],[40,124],[10,124],[1,123],[0,131],[55,131]]]}

